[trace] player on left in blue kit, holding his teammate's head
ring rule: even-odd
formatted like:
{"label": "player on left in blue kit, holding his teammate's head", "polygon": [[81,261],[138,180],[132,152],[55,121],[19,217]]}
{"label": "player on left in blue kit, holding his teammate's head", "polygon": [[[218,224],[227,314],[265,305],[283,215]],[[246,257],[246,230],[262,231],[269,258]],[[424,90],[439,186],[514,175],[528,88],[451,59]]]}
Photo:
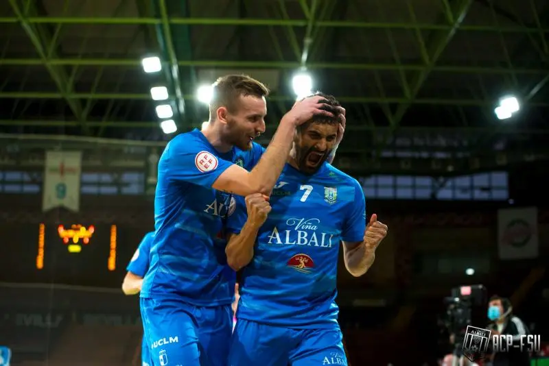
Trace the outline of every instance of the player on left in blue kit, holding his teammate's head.
{"label": "player on left in blue kit, holding his teammate's head", "polygon": [[296,126],[336,112],[323,108],[321,97],[296,103],[263,152],[253,140],[265,131],[267,95],[251,77],[221,77],[207,127],[174,137],[159,160],[155,235],[140,303],[155,366],[226,365],[235,272],[226,263],[222,228],[235,195],[270,192]]}

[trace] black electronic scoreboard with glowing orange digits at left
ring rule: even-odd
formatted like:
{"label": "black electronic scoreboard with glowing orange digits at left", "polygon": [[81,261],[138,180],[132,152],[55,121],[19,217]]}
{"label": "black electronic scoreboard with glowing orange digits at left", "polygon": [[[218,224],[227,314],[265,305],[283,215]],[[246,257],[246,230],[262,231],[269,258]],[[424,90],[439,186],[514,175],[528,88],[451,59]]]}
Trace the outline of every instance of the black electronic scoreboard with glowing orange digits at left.
{"label": "black electronic scoreboard with glowing orange digits at left", "polygon": [[104,223],[0,225],[0,281],[119,287],[144,234]]}

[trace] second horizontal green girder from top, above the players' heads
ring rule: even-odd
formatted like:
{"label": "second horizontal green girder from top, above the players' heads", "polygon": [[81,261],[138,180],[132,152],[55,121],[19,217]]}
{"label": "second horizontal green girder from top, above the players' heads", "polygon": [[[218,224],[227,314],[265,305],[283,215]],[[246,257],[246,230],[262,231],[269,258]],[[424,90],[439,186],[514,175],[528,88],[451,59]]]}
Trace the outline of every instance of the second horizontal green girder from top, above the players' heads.
{"label": "second horizontal green girder from top, above the players' heads", "polygon": [[[78,65],[78,66],[135,66],[141,67],[141,60],[123,58],[52,58],[42,60],[40,58],[3,58],[0,66],[38,66],[38,65]],[[299,61],[226,61],[226,60],[178,60],[179,66],[215,67],[222,68],[264,68],[264,69],[299,69]],[[310,62],[309,69],[346,69],[346,70],[378,70],[378,71],[422,71],[425,64],[379,64],[375,62]],[[498,66],[454,66],[434,65],[432,71],[445,73],[485,73],[485,74],[533,74],[547,75],[547,69],[530,69],[524,67],[507,68]]]}

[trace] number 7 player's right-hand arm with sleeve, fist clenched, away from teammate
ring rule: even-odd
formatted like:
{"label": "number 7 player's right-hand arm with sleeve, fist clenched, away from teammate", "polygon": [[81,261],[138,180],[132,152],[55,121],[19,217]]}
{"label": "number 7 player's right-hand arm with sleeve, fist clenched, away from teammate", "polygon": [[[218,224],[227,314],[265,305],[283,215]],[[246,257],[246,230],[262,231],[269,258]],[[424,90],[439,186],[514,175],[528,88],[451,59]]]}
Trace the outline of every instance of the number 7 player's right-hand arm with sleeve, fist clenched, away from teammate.
{"label": "number 7 player's right-hand arm with sleeve, fist clenched, away from teammate", "polygon": [[387,225],[371,216],[366,225],[366,200],[360,184],[355,185],[355,202],[342,235],[345,268],[355,277],[366,273],[375,260],[375,249],[387,235]]}

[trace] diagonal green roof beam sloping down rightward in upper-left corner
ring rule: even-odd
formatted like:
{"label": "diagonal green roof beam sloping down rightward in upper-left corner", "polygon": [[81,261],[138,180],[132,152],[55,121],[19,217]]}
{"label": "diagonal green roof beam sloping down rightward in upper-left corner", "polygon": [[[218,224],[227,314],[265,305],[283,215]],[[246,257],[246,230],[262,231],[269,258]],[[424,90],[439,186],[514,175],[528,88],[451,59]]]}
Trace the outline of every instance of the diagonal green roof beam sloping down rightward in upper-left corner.
{"label": "diagonal green roof beam sloping down rightward in upper-left corner", "polygon": [[34,1],[27,1],[27,9],[25,10],[27,14],[23,14],[16,0],[9,1],[14,13],[17,15],[17,19],[21,22],[21,26],[23,27],[25,33],[30,38],[32,44],[38,52],[38,55],[43,62],[43,65],[46,67],[49,75],[51,75],[51,78],[54,80],[56,86],[58,87],[62,98],[67,101],[67,104],[69,105],[69,108],[71,108],[74,117],[78,119],[78,121],[80,121],[80,125],[82,127],[82,130],[84,130],[84,133],[88,134],[89,127],[86,125],[86,118],[84,115],[85,111],[82,109],[82,104],[80,103],[80,100],[67,97],[67,95],[73,93],[74,91],[73,81],[71,77],[69,77],[67,71],[65,71],[65,69],[63,69],[61,65],[54,65],[47,62],[50,55],[53,58],[59,58],[58,54],[54,50],[55,47],[52,46],[54,40],[52,40],[49,29],[47,29],[45,25],[33,24],[28,21],[27,14],[37,13],[36,3],[34,3]]}

